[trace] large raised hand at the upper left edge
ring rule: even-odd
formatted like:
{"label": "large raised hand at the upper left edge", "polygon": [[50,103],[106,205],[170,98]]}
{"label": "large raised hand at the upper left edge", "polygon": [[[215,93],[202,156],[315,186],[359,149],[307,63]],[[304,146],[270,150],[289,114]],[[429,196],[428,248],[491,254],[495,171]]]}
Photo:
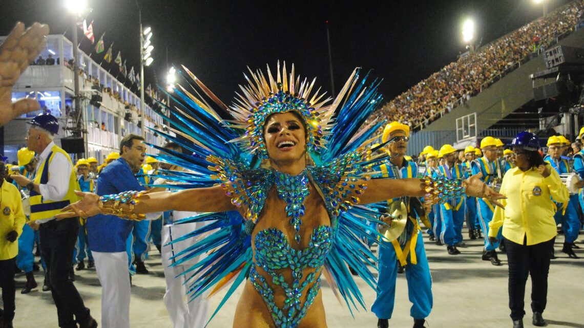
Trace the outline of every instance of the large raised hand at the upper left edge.
{"label": "large raised hand at the upper left edge", "polygon": [[12,87],[20,74],[29,66],[29,62],[46,46],[48,25],[34,23],[27,30],[21,22],[0,46],[0,126],[12,118],[39,110],[36,99],[27,98],[12,102]]}

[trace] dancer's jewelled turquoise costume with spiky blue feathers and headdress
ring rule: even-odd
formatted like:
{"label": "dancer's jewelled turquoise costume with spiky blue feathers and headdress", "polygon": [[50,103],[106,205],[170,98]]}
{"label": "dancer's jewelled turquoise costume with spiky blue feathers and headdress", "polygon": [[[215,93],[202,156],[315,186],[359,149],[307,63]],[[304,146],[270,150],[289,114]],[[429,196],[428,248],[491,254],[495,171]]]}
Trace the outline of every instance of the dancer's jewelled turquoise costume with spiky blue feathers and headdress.
{"label": "dancer's jewelled turquoise costume with spiky blue feathers and headdress", "polygon": [[[196,298],[207,291],[211,296],[232,282],[211,316],[213,319],[241,282],[249,278],[269,309],[274,326],[297,327],[319,292],[319,277],[323,273],[333,292],[349,305],[349,310],[357,305],[366,308],[349,267],[371,288],[376,287],[376,279],[368,266],[376,266],[377,260],[360,238],[368,236],[371,242],[377,242],[380,235],[371,228],[376,225],[370,222],[381,222],[376,219],[375,207],[357,204],[367,189],[366,182],[373,173],[371,168],[387,160],[385,154],[371,156],[376,148],[369,146],[384,121],[366,123],[382,99],[377,93],[378,81],[367,86],[367,76],[360,79],[359,69],[356,69],[339,95],[326,104],[331,99],[323,99],[324,95],[318,91],[312,93],[314,81],[298,78],[294,67],[288,74],[285,64],[282,69],[278,65],[276,78],[269,68],[267,75],[250,71],[249,77],[246,76],[249,85],[241,86],[235,104],[227,107],[186,68],[179,72],[218,109],[180,85],[173,93],[168,93],[173,108],[167,107],[172,115],[165,118],[172,123],[171,130],[184,138],[164,131],[157,133],[193,155],[151,145],[161,151],[152,157],[190,171],[166,176],[165,170],[159,170],[155,177],[175,181],[172,186],[178,189],[212,187],[220,183],[231,203],[244,213],[241,219],[234,219],[225,212],[213,212],[173,222],[209,222],[173,240],[179,243],[199,238],[199,242],[173,256],[173,265],[207,253],[184,273],[189,275],[191,282],[190,296]],[[194,89],[194,92],[198,94],[199,90]],[[302,117],[307,138],[307,166],[297,176],[266,168],[262,162],[267,159],[263,140],[267,118],[289,111]],[[426,190],[435,190],[436,195],[442,197],[442,191],[438,190],[441,186],[429,185]],[[317,226],[310,232],[307,247],[297,249],[291,245],[301,240],[303,220],[316,222],[315,218],[304,217],[307,210],[304,200],[315,197],[310,195],[311,190],[324,203],[330,225]],[[255,231],[260,219],[270,220],[265,218],[263,210],[269,193],[274,191],[286,203],[287,224],[293,228],[293,240],[276,228]],[[121,201],[131,204],[134,196],[121,196]],[[116,208],[107,210],[117,211]],[[130,219],[140,219],[140,215],[132,214]],[[284,275],[283,270],[290,270],[291,274]],[[277,301],[281,296],[283,302]]]}

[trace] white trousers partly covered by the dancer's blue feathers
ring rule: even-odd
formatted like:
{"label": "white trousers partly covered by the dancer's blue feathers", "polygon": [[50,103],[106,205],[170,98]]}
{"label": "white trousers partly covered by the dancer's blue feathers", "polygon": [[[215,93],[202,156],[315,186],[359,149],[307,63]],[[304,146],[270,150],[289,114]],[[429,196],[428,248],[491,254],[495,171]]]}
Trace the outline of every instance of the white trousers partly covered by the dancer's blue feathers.
{"label": "white trousers partly covered by the dancer's blue feathers", "polygon": [[[193,212],[175,211],[173,218],[176,221],[195,214]],[[208,320],[208,303],[204,296],[189,302],[189,296],[186,295],[185,281],[189,277],[189,274],[177,277],[179,274],[188,270],[192,264],[197,263],[201,257],[194,257],[185,264],[170,267],[173,262],[170,258],[181,250],[193,245],[195,240],[187,239],[179,243],[167,245],[171,240],[177,239],[203,225],[204,223],[189,223],[162,226],[162,265],[164,266],[164,277],[166,280],[164,305],[168,310],[174,328],[203,328]]]}

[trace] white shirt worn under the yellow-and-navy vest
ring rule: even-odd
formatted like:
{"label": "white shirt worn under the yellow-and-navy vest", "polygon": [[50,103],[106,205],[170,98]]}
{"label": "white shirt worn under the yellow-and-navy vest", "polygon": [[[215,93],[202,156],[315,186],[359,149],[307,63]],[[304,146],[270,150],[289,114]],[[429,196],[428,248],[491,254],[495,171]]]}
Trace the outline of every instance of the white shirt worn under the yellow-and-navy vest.
{"label": "white shirt worn under the yellow-and-navy vest", "polygon": [[[44,160],[48,158],[51,153],[51,149],[55,145],[54,141],[51,141],[47,145],[47,148],[39,155],[39,163],[36,167],[36,172],[39,172],[41,165],[44,165]],[[40,194],[45,200],[60,201],[65,196],[67,196],[67,191],[69,190],[69,177],[71,176],[71,171],[73,170],[73,163],[67,159],[65,155],[58,152],[53,156],[53,160],[48,165],[48,182],[46,184],[39,184]],[[46,222],[53,218],[41,219],[38,222]]]}

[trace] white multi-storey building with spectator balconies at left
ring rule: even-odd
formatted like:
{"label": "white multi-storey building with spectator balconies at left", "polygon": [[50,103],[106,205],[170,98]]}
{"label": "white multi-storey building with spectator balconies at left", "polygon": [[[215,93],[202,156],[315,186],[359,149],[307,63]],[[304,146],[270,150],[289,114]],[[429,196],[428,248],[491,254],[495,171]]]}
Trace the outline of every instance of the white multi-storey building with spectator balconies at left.
{"label": "white multi-storey building with spectator balconies at left", "polygon": [[[0,37],[0,44],[6,37]],[[140,96],[135,95],[99,65],[105,53],[92,57],[79,51],[79,93],[81,94],[82,126],[85,145],[85,158],[93,156],[103,162],[105,156],[119,151],[119,142],[124,135],[134,133],[141,135],[139,114]],[[46,64],[53,58],[54,64]],[[16,152],[26,146],[27,121],[41,111],[49,111],[59,120],[59,135],[55,142],[61,144],[62,138],[72,137],[74,107],[74,72],[69,61],[73,57],[71,41],[61,34],[47,36],[47,47],[41,51],[40,58],[45,64],[30,65],[20,76],[13,89],[12,99],[34,97],[41,110],[28,113],[11,121],[4,127],[4,156],[8,162],[17,160]],[[41,62],[41,61],[40,61]],[[51,62],[51,61],[49,61]],[[117,72],[114,72],[116,74]],[[120,74],[121,76],[121,74]],[[100,106],[96,107],[92,97],[101,97]],[[95,100],[95,98],[94,98]],[[91,102],[91,103],[90,103]],[[124,119],[125,117],[125,119]],[[162,117],[149,106],[145,107],[146,127],[165,129]],[[67,128],[65,128],[67,127]],[[146,141],[161,145],[165,140],[154,132],[147,130]],[[152,149],[150,149],[152,150]]]}

